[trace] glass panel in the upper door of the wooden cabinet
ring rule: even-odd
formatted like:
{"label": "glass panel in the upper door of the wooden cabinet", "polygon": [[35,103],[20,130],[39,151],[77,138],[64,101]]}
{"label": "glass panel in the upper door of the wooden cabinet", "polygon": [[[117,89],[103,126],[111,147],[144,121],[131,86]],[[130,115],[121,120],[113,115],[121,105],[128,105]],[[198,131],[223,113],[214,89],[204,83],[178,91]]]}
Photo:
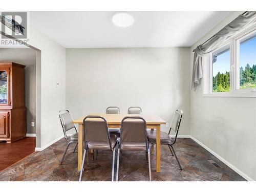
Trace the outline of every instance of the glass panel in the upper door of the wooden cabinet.
{"label": "glass panel in the upper door of the wooden cabinet", "polygon": [[0,104],[8,102],[8,79],[7,72],[0,70]]}

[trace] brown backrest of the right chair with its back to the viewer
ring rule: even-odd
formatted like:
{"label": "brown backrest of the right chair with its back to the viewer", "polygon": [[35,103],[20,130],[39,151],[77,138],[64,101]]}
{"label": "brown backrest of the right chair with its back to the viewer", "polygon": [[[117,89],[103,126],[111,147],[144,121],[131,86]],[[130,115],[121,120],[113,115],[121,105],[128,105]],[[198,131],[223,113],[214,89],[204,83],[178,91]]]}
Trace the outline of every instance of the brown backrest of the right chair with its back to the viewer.
{"label": "brown backrest of the right chair with its back to the viewer", "polygon": [[120,136],[120,144],[122,144],[122,142],[143,142],[146,143],[147,146],[145,119],[137,116],[124,117],[121,122]]}

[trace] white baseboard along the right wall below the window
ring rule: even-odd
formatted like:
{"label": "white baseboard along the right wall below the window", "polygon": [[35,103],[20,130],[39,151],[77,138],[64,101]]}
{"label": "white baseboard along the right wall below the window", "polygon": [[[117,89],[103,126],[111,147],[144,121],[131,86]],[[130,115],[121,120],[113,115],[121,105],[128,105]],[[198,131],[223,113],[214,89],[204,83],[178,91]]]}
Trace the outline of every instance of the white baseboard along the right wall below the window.
{"label": "white baseboard along the right wall below the window", "polygon": [[199,145],[201,145],[202,147],[205,148],[205,150],[207,150],[208,152],[210,152],[212,155],[214,155],[215,157],[217,157],[219,160],[221,160],[223,163],[225,163],[227,166],[229,166],[231,169],[234,170],[234,172],[238,173],[239,175],[241,175],[243,178],[245,178],[247,181],[254,181],[253,179],[251,179],[249,176],[247,176],[246,174],[244,174],[243,172],[241,172],[241,170],[239,170],[237,167],[235,167],[234,165],[232,165],[231,163],[229,163],[227,160],[225,160],[224,158],[222,158],[221,156],[219,156],[217,153],[215,153],[214,151],[212,151],[210,148],[208,148],[207,146],[205,146],[203,143],[201,143],[200,141],[198,141],[196,138],[194,138],[193,136],[190,136],[191,139],[193,139],[196,143],[198,143]]}

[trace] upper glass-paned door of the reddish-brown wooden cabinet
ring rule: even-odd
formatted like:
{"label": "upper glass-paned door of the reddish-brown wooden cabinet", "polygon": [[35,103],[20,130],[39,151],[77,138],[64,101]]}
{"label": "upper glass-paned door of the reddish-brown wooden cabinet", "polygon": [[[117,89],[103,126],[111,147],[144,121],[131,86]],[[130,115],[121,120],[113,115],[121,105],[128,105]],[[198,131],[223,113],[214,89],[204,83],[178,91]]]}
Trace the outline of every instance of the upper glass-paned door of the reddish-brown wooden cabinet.
{"label": "upper glass-paned door of the reddish-brown wooden cabinet", "polygon": [[0,106],[10,104],[10,68],[0,67]]}

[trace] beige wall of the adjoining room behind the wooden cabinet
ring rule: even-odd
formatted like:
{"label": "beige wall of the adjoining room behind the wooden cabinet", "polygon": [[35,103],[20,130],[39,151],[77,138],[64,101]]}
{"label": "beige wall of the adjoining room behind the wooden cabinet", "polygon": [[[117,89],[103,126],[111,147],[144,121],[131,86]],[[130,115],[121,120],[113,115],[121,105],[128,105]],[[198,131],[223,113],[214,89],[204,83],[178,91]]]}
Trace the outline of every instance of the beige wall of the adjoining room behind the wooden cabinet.
{"label": "beige wall of the adjoining room behind the wooden cabinet", "polygon": [[36,52],[29,48],[0,48],[0,62],[10,61],[25,65],[25,106],[27,108],[27,133],[36,133],[35,126],[35,87]]}

